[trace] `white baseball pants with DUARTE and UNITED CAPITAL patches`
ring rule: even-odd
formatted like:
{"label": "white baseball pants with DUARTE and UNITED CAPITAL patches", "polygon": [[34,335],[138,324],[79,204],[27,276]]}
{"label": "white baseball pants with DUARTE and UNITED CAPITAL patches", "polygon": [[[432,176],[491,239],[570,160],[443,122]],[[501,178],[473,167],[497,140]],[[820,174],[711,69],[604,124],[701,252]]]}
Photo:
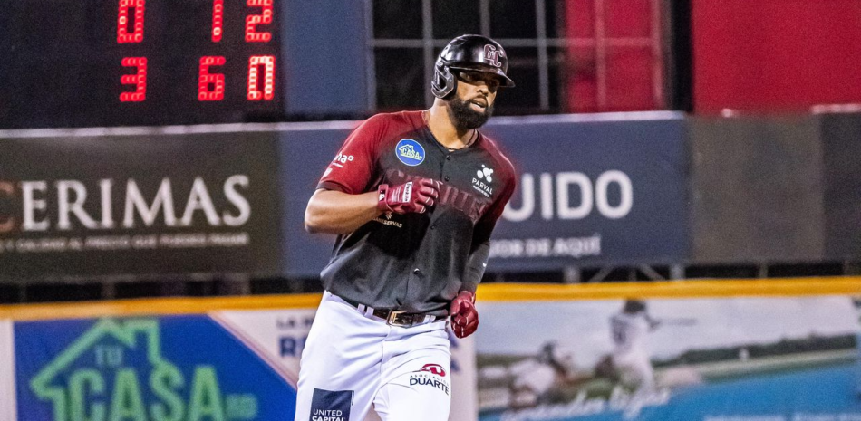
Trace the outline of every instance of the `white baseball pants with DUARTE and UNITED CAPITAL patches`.
{"label": "white baseball pants with DUARTE and UNITED CAPITAL patches", "polygon": [[295,421],[445,421],[451,405],[446,321],[390,326],[324,292],[302,351]]}

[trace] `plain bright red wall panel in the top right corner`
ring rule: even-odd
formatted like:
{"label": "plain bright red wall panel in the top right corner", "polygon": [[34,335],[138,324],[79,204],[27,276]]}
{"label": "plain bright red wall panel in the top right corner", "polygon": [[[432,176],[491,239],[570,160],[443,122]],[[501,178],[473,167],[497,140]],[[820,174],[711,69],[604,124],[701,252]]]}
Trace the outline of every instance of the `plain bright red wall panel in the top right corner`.
{"label": "plain bright red wall panel in the top right corner", "polygon": [[861,1],[692,0],[694,108],[861,102]]}

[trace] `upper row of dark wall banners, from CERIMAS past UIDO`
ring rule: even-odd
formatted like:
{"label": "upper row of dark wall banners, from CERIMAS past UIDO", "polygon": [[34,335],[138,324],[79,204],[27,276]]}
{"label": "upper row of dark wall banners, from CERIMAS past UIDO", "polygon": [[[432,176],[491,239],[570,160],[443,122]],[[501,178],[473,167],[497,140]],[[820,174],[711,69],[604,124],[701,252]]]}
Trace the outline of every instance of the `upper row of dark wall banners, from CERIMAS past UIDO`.
{"label": "upper row of dark wall banners, from CERIMAS past UIDO", "polygon": [[[0,282],[315,277],[334,237],[305,232],[305,206],[356,124],[0,131]],[[487,132],[519,175],[489,272],[861,259],[861,115]]]}

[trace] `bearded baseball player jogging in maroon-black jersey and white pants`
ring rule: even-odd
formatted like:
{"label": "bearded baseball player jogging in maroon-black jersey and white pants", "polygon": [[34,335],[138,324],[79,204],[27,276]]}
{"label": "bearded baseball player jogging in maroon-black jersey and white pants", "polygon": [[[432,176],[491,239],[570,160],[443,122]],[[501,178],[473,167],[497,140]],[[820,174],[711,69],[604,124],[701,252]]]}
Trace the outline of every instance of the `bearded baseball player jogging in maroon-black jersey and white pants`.
{"label": "bearded baseball player jogging in maroon-black jersey and white pants", "polygon": [[430,110],[377,114],[346,139],[305,211],[338,234],[302,353],[296,421],[449,416],[447,323],[479,324],[475,290],[514,168],[478,129],[512,87],[502,46],[452,40],[435,64]]}

